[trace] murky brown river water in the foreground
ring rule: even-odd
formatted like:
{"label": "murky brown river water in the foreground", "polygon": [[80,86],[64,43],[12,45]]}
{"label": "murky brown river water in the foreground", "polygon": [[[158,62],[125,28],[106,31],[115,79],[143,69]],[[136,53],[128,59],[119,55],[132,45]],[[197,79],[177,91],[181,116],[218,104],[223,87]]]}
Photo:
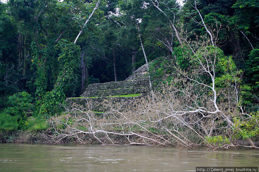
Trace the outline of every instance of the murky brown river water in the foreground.
{"label": "murky brown river water in the foreground", "polygon": [[179,150],[148,146],[0,144],[0,171],[195,171],[258,167],[258,150]]}

